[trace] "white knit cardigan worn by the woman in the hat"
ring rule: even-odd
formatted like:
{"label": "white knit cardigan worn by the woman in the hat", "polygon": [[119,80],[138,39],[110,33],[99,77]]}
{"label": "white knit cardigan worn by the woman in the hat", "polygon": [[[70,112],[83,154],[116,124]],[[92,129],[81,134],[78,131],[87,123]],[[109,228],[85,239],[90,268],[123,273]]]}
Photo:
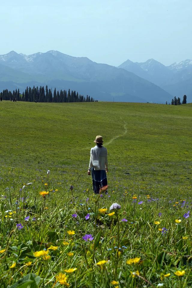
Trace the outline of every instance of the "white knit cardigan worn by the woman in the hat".
{"label": "white knit cardigan worn by the woman in the hat", "polygon": [[91,148],[89,170],[91,167],[95,170],[105,170],[108,167],[107,148],[99,148],[97,145]]}

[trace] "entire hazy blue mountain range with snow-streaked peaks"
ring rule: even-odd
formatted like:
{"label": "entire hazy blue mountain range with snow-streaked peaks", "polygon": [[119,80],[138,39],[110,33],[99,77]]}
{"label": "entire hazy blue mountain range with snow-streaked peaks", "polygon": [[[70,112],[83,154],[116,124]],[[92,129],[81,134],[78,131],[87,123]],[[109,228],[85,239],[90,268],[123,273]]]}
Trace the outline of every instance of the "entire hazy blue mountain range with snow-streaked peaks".
{"label": "entire hazy blue mountain range with snow-streaked peaks", "polygon": [[127,60],[114,67],[55,50],[32,55],[11,51],[0,55],[0,91],[48,85],[100,101],[169,103],[174,96],[186,94],[190,102],[191,64],[186,60],[166,67],[150,59],[144,63]]}

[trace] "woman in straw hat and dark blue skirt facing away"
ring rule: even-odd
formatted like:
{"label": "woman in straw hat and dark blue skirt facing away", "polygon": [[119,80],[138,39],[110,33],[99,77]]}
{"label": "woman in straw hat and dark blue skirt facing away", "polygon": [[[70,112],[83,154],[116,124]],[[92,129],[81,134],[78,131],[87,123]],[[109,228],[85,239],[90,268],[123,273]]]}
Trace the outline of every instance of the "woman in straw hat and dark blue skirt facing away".
{"label": "woman in straw hat and dark blue skirt facing away", "polygon": [[108,160],[107,148],[103,147],[103,137],[96,136],[95,147],[91,148],[88,175],[92,175],[93,191],[99,193],[101,187],[107,186]]}

